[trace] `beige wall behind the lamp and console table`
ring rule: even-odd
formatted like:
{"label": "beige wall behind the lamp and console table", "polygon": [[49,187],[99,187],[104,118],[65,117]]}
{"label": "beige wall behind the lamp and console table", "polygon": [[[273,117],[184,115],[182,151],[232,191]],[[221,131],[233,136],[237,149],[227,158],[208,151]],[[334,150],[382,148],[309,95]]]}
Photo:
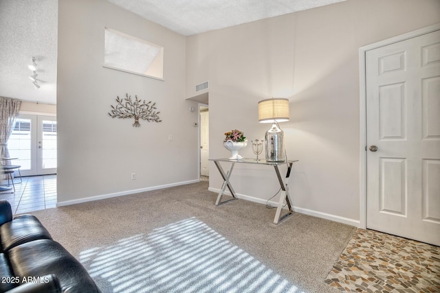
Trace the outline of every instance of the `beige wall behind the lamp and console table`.
{"label": "beige wall behind the lamp and console table", "polygon": [[[440,21],[438,0],[349,0],[263,21],[190,36],[186,97],[210,82],[210,157],[228,156],[223,133],[248,139],[270,127],[258,123],[257,103],[287,97],[288,159],[299,159],[289,180],[298,211],[357,225],[360,220],[358,49]],[[254,156],[250,145],[242,151]],[[278,190],[272,169],[239,165],[237,193],[267,199]],[[210,166],[210,189],[221,187]]]}

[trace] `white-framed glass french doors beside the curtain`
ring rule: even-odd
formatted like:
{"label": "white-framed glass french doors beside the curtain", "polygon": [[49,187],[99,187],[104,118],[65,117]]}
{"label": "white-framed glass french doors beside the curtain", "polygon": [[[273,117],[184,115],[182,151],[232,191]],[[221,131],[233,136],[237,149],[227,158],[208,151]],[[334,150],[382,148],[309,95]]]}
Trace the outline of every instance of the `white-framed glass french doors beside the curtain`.
{"label": "white-framed glass french doors beside the curtain", "polygon": [[56,117],[19,115],[8,149],[22,176],[56,174]]}

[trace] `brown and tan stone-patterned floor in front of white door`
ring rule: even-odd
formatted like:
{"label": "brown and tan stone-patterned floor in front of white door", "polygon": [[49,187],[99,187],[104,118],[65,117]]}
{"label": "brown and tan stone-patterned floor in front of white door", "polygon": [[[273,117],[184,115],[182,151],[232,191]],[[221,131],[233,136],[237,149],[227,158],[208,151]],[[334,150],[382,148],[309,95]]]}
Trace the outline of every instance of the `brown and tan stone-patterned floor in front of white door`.
{"label": "brown and tan stone-patterned floor in front of white door", "polygon": [[357,229],[325,283],[342,292],[440,292],[440,247]]}

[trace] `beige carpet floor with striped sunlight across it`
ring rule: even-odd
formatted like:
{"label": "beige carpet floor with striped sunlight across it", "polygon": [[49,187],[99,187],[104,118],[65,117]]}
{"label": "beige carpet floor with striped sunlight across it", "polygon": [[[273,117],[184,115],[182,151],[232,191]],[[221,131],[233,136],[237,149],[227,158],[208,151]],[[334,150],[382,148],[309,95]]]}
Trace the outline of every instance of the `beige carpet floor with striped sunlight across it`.
{"label": "beige carpet floor with striped sunlight across it", "polygon": [[340,292],[327,274],[355,227],[236,200],[208,182],[35,211],[102,292]]}

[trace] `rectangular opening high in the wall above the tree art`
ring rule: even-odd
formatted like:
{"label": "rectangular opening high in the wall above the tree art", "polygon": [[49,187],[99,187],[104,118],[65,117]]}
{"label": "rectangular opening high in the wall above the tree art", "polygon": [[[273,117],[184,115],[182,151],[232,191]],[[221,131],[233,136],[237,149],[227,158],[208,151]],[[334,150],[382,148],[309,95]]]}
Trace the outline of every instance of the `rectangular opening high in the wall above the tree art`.
{"label": "rectangular opening high in the wall above the tree art", "polygon": [[104,27],[103,67],[163,80],[164,47]]}

